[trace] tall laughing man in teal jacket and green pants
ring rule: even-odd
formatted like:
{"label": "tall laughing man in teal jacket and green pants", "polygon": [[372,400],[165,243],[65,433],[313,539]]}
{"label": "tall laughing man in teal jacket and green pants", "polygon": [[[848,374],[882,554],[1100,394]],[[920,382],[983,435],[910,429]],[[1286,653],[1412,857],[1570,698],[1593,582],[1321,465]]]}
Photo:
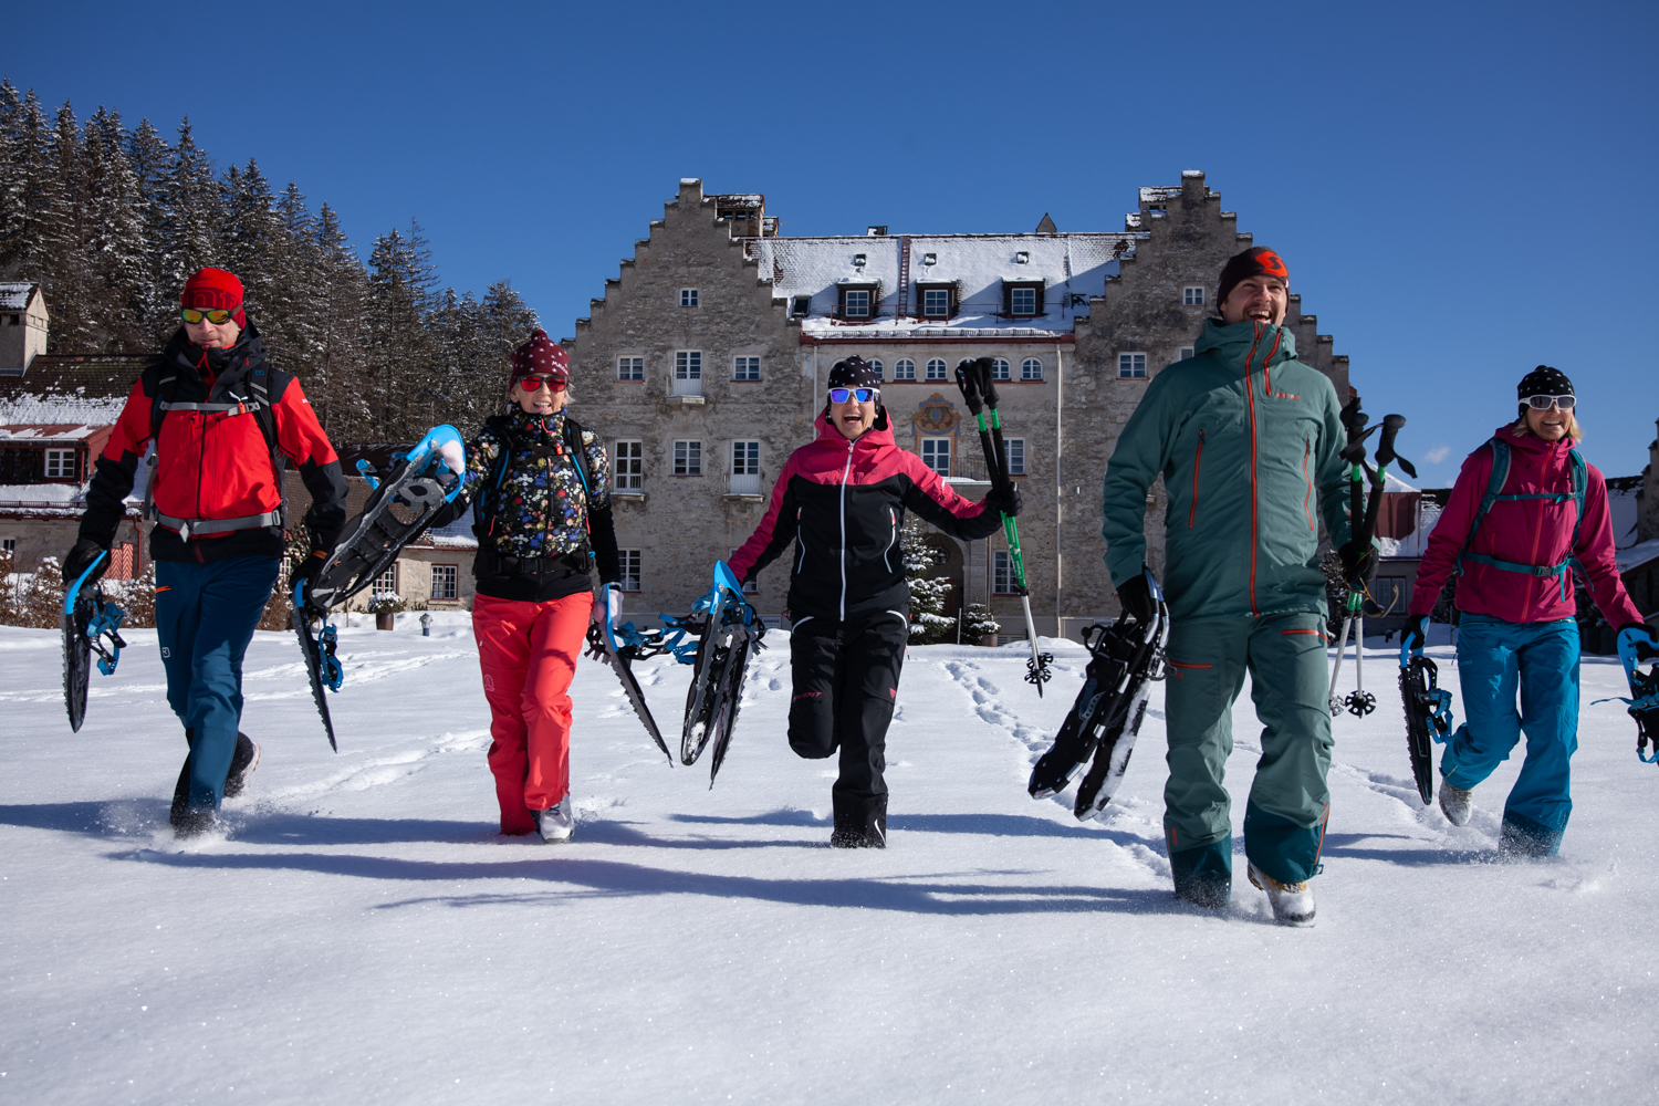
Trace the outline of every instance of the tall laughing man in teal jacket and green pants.
{"label": "tall laughing man in teal jacket and green pants", "polygon": [[1244,811],[1249,877],[1274,917],[1307,925],[1329,814],[1322,512],[1352,579],[1375,570],[1349,544],[1345,433],[1335,388],[1296,360],[1282,328],[1289,272],[1249,249],[1221,270],[1219,320],[1170,365],[1118,439],[1105,479],[1107,569],[1130,614],[1150,617],[1141,524],[1163,476],[1170,604],[1165,836],[1175,894],[1221,907],[1233,889],[1223,774],[1233,701],[1251,675],[1261,759]]}

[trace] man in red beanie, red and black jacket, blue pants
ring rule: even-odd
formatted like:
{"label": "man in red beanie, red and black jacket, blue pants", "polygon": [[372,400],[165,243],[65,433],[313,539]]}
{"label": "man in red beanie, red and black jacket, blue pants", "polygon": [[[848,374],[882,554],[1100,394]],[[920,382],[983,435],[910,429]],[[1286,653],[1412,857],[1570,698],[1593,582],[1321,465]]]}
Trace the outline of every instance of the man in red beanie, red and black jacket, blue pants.
{"label": "man in red beanie, red and black jacket, blue pants", "polygon": [[259,746],[239,733],[242,655],[282,557],[282,463],[299,468],[312,496],[304,575],[317,574],[345,526],[345,478],[299,380],[265,360],[242,282],[202,269],[179,303],[182,325],[133,385],[98,458],[63,575],[73,580],[109,549],[139,456],[154,443],[144,516],[156,522],[149,555],[168,705],[189,745],[171,821],[187,837],[212,827],[221,799],[241,793],[259,763]]}

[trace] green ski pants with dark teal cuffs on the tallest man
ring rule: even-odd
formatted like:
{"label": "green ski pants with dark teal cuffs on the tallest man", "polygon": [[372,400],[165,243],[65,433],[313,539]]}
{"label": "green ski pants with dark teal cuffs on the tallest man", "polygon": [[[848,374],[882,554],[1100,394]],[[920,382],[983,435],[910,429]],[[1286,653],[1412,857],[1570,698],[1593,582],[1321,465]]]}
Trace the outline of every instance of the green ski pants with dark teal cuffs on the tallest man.
{"label": "green ski pants with dark teal cuffs on the tallest man", "polygon": [[[1251,677],[1261,759],[1244,808],[1244,854],[1287,884],[1319,871],[1331,791],[1331,678],[1324,620],[1314,614],[1178,622],[1170,632],[1165,721],[1170,783],[1163,827],[1176,894],[1224,887],[1233,874],[1233,703]],[[1198,897],[1198,895],[1191,895]]]}

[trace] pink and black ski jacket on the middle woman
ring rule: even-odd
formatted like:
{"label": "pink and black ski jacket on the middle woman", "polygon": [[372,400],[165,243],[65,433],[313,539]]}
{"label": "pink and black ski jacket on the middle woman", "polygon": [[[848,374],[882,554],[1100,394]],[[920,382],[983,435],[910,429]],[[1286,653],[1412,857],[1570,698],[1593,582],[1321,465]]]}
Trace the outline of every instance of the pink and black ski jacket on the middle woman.
{"label": "pink and black ski jacket on the middle woman", "polygon": [[766,517],[728,564],[750,580],[793,541],[795,622],[846,622],[881,610],[909,617],[899,549],[906,511],[961,541],[989,537],[1002,524],[997,511],[962,499],[921,458],[899,449],[886,411],[854,441],[820,415],[818,441],[785,461]]}

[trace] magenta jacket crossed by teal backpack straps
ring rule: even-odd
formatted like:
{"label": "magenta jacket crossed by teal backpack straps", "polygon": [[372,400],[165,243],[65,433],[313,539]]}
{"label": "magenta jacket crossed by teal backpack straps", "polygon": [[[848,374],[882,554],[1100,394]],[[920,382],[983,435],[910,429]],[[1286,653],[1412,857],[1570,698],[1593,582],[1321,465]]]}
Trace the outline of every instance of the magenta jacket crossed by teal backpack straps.
{"label": "magenta jacket crossed by teal backpack straps", "polygon": [[[1608,483],[1596,466],[1588,466],[1584,481],[1584,521],[1571,499],[1573,466],[1568,451],[1571,438],[1545,441],[1535,434],[1516,434],[1500,426],[1495,438],[1510,444],[1510,474],[1503,484],[1506,496],[1561,494],[1551,499],[1516,499],[1491,504],[1475,529],[1468,552],[1525,565],[1556,565],[1576,557],[1589,577],[1589,592],[1603,617],[1616,627],[1641,622],[1631,597],[1624,594],[1619,569],[1613,559],[1613,519],[1608,514]],[[1491,476],[1491,448],[1483,444],[1463,459],[1452,488],[1452,499],[1428,536],[1428,549],[1417,569],[1410,615],[1427,615],[1440,600],[1440,589],[1458,567],[1458,552],[1468,541],[1470,526],[1486,494]],[[1578,526],[1578,546],[1573,527]],[[1566,582],[1563,589],[1563,580]],[[1563,594],[1564,590],[1564,594]],[[1571,572],[1561,575],[1528,575],[1477,560],[1463,560],[1457,582],[1457,609],[1503,622],[1554,622],[1576,614]]]}

